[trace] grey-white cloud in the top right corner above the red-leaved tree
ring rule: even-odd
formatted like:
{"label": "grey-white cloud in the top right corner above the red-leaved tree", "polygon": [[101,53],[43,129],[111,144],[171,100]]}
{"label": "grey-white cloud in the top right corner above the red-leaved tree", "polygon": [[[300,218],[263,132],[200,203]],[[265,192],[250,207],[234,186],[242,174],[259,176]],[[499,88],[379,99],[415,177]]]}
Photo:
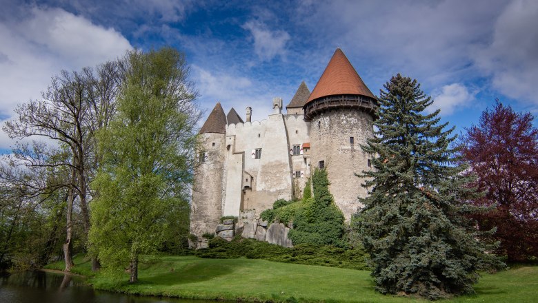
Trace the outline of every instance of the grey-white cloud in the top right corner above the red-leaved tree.
{"label": "grey-white cloud in the top right corner above the red-leaved tree", "polygon": [[505,96],[538,105],[538,1],[516,0],[495,23],[492,43],[475,61]]}

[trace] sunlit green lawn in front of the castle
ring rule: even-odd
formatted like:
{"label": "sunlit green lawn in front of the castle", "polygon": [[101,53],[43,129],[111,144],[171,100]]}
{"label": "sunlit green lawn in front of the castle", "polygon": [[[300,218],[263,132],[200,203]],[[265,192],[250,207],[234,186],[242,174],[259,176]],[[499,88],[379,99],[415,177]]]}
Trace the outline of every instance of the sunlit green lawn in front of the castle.
{"label": "sunlit green lawn in front of the castle", "polygon": [[[75,258],[79,272],[90,262]],[[61,264],[49,268],[61,269]],[[83,268],[82,270],[80,268]],[[368,271],[318,267],[250,259],[201,259],[194,256],[159,256],[141,264],[140,282],[130,285],[97,275],[97,289],[184,298],[274,302],[426,302],[381,295],[373,290]],[[537,302],[538,267],[519,267],[495,275],[484,274],[477,295],[439,302]]]}

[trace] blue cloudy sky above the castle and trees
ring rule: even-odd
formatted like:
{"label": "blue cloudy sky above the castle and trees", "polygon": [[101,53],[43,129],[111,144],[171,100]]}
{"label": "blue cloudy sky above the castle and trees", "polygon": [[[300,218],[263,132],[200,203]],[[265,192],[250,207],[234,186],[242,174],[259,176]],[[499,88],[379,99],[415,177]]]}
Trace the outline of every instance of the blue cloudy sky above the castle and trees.
{"label": "blue cloudy sky above the castle and trees", "polygon": [[[197,102],[252,120],[272,98],[313,90],[336,48],[379,96],[417,79],[464,132],[499,99],[538,115],[538,1],[0,0],[0,123],[51,77],[170,45],[186,54]],[[205,121],[205,118],[203,119]],[[201,123],[203,123],[201,121]],[[535,119],[537,125],[537,119]],[[201,125],[200,125],[201,126]],[[0,153],[13,141],[0,131]]]}

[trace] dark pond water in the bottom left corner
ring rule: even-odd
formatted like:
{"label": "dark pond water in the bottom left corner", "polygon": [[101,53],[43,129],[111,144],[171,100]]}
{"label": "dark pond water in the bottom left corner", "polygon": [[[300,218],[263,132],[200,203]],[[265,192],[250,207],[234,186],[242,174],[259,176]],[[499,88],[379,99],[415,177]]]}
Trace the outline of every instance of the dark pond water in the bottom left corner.
{"label": "dark pond water in the bottom left corner", "polygon": [[0,303],[204,303],[206,300],[179,300],[140,297],[108,291],[95,291],[84,278],[32,271],[0,277]]}

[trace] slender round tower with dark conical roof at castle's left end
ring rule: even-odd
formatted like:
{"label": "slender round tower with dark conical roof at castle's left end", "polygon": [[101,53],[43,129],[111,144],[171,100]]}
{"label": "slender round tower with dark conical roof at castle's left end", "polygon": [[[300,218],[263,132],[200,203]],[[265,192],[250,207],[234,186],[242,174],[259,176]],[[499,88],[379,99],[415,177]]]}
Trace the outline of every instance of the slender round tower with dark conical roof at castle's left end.
{"label": "slender round tower with dark conical roof at castle's left end", "polygon": [[213,108],[208,120],[199,132],[201,144],[197,150],[195,180],[192,185],[190,206],[190,233],[197,236],[197,242],[190,246],[206,246],[203,233],[215,233],[222,216],[222,179],[226,143],[226,115],[221,103]]}

